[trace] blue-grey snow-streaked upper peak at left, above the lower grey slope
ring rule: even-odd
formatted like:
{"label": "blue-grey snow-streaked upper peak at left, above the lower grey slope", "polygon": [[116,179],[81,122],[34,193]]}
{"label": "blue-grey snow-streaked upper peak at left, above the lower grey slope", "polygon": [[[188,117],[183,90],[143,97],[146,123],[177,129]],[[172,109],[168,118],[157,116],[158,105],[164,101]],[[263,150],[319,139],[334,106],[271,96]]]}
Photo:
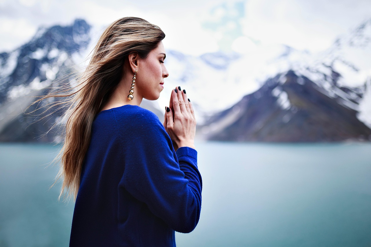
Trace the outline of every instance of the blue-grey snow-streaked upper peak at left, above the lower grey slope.
{"label": "blue-grey snow-streaked upper peak at left, above the lower grey slope", "polygon": [[90,41],[91,26],[76,19],[69,26],[40,28],[26,44],[0,54],[0,104],[50,84],[77,51]]}

